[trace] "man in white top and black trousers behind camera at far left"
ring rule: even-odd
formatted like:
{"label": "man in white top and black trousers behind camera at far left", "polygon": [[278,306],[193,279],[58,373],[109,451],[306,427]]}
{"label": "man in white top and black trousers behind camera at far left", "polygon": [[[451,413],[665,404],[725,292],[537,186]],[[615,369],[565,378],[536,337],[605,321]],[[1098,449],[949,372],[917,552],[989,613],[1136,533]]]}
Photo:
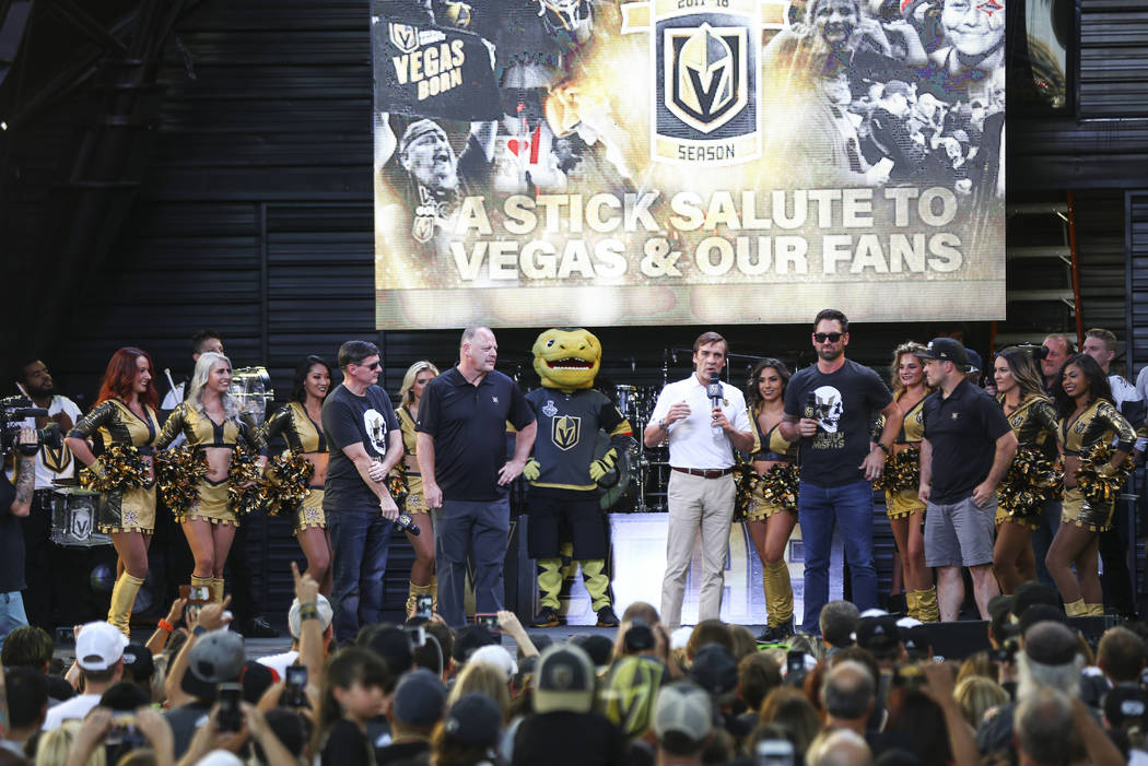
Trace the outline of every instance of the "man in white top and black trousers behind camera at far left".
{"label": "man in white top and black trousers behind camera at far left", "polygon": [[[80,411],[68,397],[56,393],[55,382],[48,366],[39,359],[33,359],[20,366],[16,370],[16,389],[32,400],[33,407],[47,411],[47,416],[29,417],[21,423],[23,427],[38,429],[54,428],[59,433],[67,433]],[[54,444],[40,444],[36,453],[33,474],[36,476],[34,493],[31,510],[21,522],[26,552],[26,569],[24,577],[24,608],[28,610],[32,625],[52,632],[55,623],[52,619],[53,601],[67,600],[67,613],[75,617],[83,613],[85,604],[79,592],[71,587],[75,578],[67,577],[59,555],[49,540],[52,531],[52,486],[53,482],[71,479],[76,476],[76,461],[71,451],[60,440]],[[17,475],[13,475],[16,482]]]}

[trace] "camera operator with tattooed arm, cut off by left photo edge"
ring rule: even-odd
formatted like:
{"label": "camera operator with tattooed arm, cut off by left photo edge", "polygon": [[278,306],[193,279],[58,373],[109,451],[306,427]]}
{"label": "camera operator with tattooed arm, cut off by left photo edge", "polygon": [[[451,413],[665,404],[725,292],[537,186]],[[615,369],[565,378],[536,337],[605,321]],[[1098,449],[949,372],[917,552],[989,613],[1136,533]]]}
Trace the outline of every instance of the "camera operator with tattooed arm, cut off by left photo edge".
{"label": "camera operator with tattooed arm, cut off by left photo edge", "polygon": [[16,484],[0,472],[0,647],[9,633],[28,625],[20,594],[24,587],[24,539],[18,519],[26,518],[31,508],[36,445],[36,429],[21,429],[14,450]]}

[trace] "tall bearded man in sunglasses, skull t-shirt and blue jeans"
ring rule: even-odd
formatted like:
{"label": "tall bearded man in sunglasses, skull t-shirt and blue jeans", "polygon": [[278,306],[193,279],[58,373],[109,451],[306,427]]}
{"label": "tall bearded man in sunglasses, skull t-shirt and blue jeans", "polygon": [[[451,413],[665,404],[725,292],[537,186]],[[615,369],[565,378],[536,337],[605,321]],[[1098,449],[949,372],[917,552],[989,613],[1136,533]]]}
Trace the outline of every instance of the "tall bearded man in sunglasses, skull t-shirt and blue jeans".
{"label": "tall bearded man in sunglasses, skull t-shirt and blue jeans", "polygon": [[[864,611],[877,605],[872,557],[872,484],[901,430],[901,411],[868,367],[845,358],[850,320],[836,308],[813,322],[817,364],[798,372],[785,389],[782,437],[801,439],[798,518],[805,541],[806,633],[816,633],[829,600],[829,553],[839,524],[852,574],[852,601]],[[869,441],[874,413],[885,428]]]}

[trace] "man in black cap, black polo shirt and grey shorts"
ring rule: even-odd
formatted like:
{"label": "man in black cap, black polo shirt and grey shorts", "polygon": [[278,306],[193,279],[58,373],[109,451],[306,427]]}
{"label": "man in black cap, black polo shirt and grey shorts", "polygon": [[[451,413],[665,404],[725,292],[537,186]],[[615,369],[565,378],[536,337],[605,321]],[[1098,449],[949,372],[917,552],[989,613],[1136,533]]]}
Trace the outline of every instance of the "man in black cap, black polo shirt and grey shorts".
{"label": "man in black cap, black polo shirt and grey shorts", "polygon": [[937,568],[943,622],[955,620],[964,601],[961,566],[972,576],[980,618],[1000,593],[993,577],[993,521],[996,485],[1004,478],[1016,436],[1004,411],[967,380],[969,357],[953,338],[933,338],[917,354],[937,393],[922,405],[921,500],[925,511],[925,565]]}

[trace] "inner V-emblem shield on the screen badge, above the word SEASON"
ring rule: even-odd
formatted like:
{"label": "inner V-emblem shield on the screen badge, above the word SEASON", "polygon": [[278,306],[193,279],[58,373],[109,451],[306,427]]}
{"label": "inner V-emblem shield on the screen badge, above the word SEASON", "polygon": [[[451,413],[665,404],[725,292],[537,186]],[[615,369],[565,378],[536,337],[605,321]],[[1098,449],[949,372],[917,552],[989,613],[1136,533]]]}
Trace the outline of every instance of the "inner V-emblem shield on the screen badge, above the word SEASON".
{"label": "inner V-emblem shield on the screen badge, above the word SEASON", "polygon": [[705,22],[695,29],[665,30],[669,111],[708,134],[744,109],[747,38],[745,28],[715,30]]}

